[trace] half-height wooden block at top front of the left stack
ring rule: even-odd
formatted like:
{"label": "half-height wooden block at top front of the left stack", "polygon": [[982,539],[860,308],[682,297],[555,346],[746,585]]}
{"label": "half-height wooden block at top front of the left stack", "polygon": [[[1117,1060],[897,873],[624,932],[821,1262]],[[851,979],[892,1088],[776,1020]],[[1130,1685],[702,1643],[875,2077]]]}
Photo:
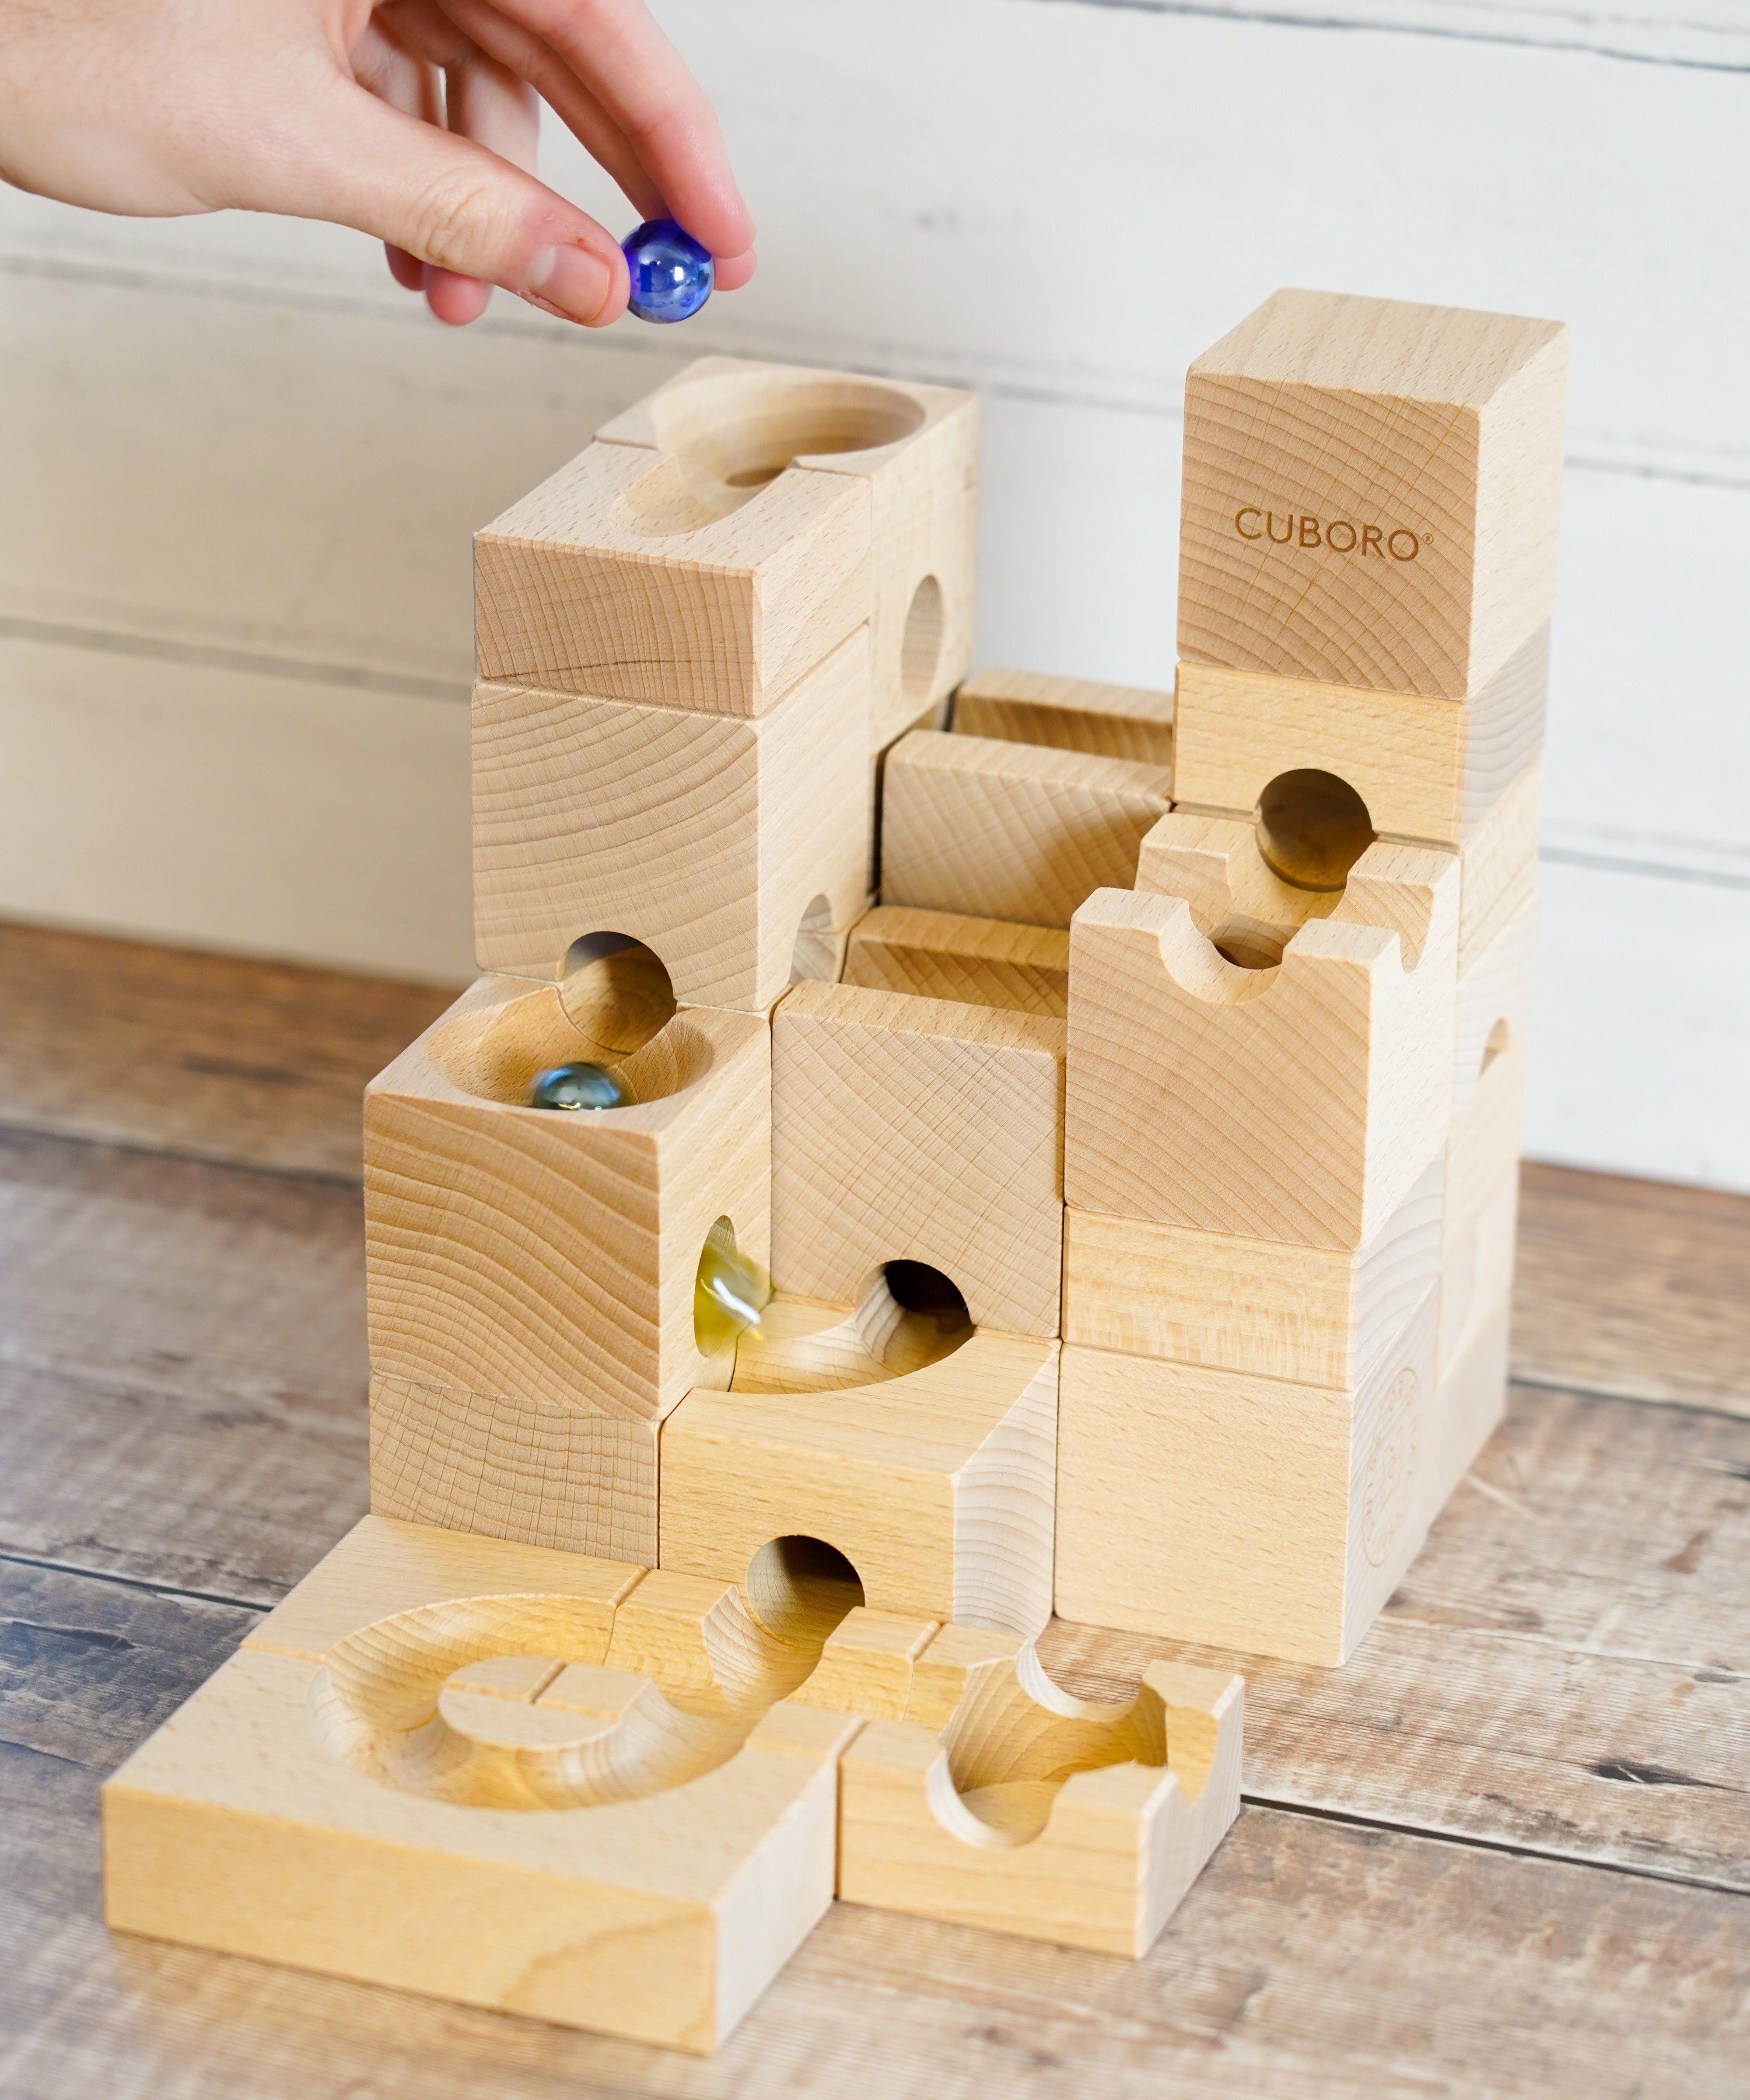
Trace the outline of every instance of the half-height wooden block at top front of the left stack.
{"label": "half-height wooden block at top front of the left stack", "polygon": [[870,487],[807,468],[700,498],[590,445],[475,533],[475,657],[504,685],[763,714],[870,617]]}

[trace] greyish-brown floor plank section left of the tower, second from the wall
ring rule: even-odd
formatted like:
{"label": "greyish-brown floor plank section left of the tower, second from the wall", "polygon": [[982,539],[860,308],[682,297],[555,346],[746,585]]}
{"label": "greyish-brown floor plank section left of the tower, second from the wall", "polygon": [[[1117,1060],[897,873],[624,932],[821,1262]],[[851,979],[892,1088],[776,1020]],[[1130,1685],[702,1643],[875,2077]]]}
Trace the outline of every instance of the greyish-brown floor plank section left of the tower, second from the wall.
{"label": "greyish-brown floor plank section left of the tower, second from the wall", "polygon": [[357,1189],[0,1132],[0,1550],[271,1604],[366,1499]]}

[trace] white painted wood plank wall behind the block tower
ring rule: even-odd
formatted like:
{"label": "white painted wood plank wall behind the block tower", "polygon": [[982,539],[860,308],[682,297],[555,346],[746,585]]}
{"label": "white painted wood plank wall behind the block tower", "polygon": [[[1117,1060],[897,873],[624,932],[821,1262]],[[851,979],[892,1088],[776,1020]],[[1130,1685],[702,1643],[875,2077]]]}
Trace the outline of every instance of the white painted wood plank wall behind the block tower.
{"label": "white painted wood plank wall behind the block tower", "polygon": [[1616,4],[658,0],[763,250],[674,332],[0,191],[0,914],[466,976],[468,531],[708,349],[979,386],[981,659],[1166,685],[1204,344],[1559,315],[1529,1147],[1750,1189],[1750,10]]}

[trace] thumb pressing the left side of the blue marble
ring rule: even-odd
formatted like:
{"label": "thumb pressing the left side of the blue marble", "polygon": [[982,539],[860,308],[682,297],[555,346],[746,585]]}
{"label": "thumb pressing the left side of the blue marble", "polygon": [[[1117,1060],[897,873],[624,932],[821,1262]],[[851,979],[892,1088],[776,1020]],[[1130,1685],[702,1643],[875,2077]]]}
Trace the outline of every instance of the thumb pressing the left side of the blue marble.
{"label": "thumb pressing the left side of the blue marble", "polygon": [[626,311],[630,279],[613,235],[473,139],[353,82],[334,82],[298,134],[284,141],[271,195],[248,200],[256,210],[357,227],[586,328]]}

